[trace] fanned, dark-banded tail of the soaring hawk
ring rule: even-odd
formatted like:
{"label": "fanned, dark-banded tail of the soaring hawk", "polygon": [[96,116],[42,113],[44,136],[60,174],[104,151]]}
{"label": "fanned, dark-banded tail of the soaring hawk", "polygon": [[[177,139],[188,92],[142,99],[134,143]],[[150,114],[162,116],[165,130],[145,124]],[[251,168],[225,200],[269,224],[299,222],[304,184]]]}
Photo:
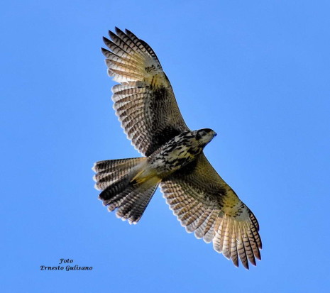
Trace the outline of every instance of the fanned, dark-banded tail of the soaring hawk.
{"label": "fanned, dark-banded tail of the soaring hawk", "polygon": [[94,164],[95,188],[102,190],[99,199],[109,211],[117,209],[116,216],[123,221],[137,223],[141,219],[160,182],[155,176],[139,180],[146,162],[147,157],[136,157]]}

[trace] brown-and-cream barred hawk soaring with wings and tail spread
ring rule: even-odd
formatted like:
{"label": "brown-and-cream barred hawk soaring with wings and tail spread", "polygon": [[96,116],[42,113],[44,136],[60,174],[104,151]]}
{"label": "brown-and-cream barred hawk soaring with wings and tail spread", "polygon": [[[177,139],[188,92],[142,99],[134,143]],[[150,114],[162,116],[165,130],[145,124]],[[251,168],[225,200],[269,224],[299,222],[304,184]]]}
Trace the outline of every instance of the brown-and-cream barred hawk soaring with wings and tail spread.
{"label": "brown-and-cream barred hawk soaring with wings and tail spread", "polygon": [[260,260],[259,225],[252,211],[211,166],[203,153],[216,133],[191,131],[153,49],[131,33],[109,31],[102,48],[112,87],[114,110],[128,139],[143,157],[94,164],[95,188],[109,211],[138,223],[160,186],[173,214],[197,238],[232,260]]}

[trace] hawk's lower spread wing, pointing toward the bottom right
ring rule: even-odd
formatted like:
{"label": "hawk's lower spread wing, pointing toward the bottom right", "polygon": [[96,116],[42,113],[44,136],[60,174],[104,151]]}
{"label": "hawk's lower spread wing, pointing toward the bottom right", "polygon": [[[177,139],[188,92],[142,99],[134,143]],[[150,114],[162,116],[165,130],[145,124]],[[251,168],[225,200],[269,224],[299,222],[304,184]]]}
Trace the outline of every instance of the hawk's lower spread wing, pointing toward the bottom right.
{"label": "hawk's lower spread wing, pointing toward the bottom right", "polygon": [[162,192],[187,232],[213,242],[213,247],[238,267],[238,257],[260,260],[259,225],[253,213],[218,175],[204,153],[160,183]]}

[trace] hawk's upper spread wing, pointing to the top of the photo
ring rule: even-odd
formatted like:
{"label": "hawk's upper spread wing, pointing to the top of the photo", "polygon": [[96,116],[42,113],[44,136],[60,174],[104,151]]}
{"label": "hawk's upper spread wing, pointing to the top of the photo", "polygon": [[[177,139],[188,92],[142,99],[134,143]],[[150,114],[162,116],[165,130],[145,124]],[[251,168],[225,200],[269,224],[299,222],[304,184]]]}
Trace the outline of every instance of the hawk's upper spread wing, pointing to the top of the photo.
{"label": "hawk's upper spread wing, pointing to the top of the photo", "polygon": [[170,81],[150,46],[126,30],[109,31],[102,48],[112,88],[114,109],[135,148],[150,155],[161,145],[189,130],[175,100]]}

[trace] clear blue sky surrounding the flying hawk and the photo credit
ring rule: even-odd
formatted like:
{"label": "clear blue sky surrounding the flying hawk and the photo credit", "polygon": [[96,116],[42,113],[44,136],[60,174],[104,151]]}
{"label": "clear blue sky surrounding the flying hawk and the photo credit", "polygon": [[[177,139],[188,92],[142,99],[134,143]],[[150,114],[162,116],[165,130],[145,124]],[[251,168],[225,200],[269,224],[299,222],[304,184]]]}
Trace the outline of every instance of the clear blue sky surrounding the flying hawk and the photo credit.
{"label": "clear blue sky surrounding the flying hawk and the photo credit", "polygon": [[[3,1],[1,292],[329,290],[329,1]],[[155,193],[136,226],[94,189],[97,160],[136,157],[101,37],[149,43],[187,125],[253,210],[247,271],[185,232]],[[92,271],[40,271],[60,258]]]}

